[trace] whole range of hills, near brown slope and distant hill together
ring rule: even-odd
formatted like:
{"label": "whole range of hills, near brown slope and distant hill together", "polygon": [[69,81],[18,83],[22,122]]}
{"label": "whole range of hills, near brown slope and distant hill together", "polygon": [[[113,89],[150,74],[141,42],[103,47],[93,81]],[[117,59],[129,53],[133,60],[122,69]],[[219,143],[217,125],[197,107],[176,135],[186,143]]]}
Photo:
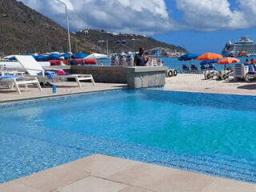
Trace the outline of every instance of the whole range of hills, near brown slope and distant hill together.
{"label": "whole range of hills, near brown slope and distant hill together", "polygon": [[[64,16],[63,16],[64,19]],[[122,50],[133,51],[143,46],[146,50],[164,51],[186,50],[165,42],[158,42],[138,34],[113,34],[104,30],[81,30],[70,33],[71,48],[74,53],[90,51],[106,53],[108,40],[109,53]],[[17,0],[0,0],[0,56],[2,54],[46,53],[51,51],[68,51],[67,32],[50,18],[25,6]],[[104,40],[105,42],[98,42]],[[117,41],[126,41],[126,45],[118,45]]]}

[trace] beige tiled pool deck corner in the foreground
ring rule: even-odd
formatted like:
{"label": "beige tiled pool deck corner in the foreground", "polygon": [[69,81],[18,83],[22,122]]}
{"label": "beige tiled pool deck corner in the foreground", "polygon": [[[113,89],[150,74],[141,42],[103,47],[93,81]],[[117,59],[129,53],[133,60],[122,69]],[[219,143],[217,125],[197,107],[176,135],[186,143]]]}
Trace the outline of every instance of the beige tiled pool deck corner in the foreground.
{"label": "beige tiled pool deck corner in the foreground", "polygon": [[1,192],[250,192],[256,185],[94,154],[0,185]]}

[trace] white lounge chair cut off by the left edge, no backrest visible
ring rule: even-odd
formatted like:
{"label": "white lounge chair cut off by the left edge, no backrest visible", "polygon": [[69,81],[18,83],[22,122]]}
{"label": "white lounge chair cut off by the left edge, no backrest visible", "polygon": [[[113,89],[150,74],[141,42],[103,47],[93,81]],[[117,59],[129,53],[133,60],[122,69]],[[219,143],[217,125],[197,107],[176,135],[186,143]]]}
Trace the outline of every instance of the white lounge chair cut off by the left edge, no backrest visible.
{"label": "white lounge chair cut off by the left edge, no backrest visible", "polygon": [[18,94],[22,94],[21,90],[19,89],[20,85],[25,85],[27,88],[28,84],[35,84],[38,86],[38,89],[42,91],[38,78],[34,77],[0,76],[0,82],[8,86],[11,90],[13,90],[15,87]]}

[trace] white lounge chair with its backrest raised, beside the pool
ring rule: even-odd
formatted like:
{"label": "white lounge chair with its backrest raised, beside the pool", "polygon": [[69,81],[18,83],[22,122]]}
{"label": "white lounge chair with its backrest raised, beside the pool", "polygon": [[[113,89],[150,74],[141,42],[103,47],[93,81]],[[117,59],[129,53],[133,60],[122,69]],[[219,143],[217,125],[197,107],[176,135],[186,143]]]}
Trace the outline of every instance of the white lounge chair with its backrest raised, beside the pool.
{"label": "white lounge chair with its backrest raised, beside the pool", "polygon": [[[39,82],[43,82],[45,84],[46,82],[50,81],[50,79],[48,79],[45,76],[45,70],[32,56],[15,55],[15,58],[26,69],[28,74],[30,74],[31,76],[37,76]],[[54,69],[50,69],[50,70],[54,70]],[[42,73],[42,75],[38,75],[40,72]],[[74,78],[80,88],[82,88],[82,85],[80,82],[82,80],[90,80],[95,86],[94,78],[91,74],[54,75],[52,77],[52,81],[54,81],[54,79],[63,79],[63,78]]]}

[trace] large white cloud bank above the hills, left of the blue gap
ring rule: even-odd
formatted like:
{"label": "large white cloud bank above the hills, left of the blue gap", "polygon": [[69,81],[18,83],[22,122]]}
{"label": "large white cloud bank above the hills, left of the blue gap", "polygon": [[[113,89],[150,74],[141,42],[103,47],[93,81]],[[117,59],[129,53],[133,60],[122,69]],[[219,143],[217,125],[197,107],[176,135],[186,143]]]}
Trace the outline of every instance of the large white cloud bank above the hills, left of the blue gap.
{"label": "large white cloud bank above the hills, left of the blue gap", "polygon": [[[64,7],[53,0],[20,0],[34,10],[66,26]],[[65,0],[66,1],[66,0]],[[70,0],[72,30],[85,28],[154,34],[177,30],[178,22],[169,18],[164,0]]]}

